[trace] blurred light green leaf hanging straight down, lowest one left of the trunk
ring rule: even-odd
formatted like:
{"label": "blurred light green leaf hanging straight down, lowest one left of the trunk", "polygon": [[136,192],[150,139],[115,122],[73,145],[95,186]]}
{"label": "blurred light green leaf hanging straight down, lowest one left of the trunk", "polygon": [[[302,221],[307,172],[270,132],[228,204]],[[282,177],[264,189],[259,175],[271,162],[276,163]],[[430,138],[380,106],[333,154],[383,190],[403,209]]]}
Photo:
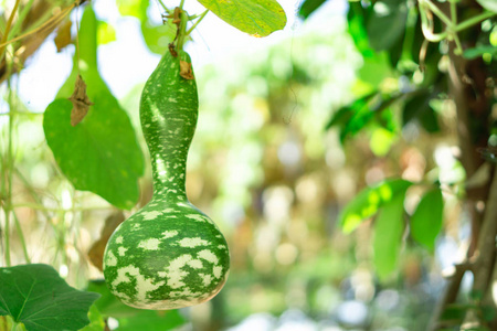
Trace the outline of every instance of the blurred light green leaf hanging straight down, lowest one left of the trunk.
{"label": "blurred light green leaf hanging straight down, lowest one left of the trunk", "polygon": [[389,276],[398,265],[404,232],[404,196],[405,190],[392,196],[374,221],[373,261],[380,279]]}

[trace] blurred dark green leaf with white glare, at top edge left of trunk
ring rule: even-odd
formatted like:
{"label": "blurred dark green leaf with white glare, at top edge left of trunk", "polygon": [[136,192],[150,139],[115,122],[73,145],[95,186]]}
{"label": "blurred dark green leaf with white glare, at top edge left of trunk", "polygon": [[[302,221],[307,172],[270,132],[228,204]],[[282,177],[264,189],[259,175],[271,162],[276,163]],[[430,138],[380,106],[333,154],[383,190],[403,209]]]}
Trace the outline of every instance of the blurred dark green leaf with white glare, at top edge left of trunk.
{"label": "blurred dark green leaf with white glare, at top edge left of trunk", "polygon": [[371,47],[378,52],[390,50],[399,39],[403,38],[406,20],[405,1],[377,1],[367,25]]}

